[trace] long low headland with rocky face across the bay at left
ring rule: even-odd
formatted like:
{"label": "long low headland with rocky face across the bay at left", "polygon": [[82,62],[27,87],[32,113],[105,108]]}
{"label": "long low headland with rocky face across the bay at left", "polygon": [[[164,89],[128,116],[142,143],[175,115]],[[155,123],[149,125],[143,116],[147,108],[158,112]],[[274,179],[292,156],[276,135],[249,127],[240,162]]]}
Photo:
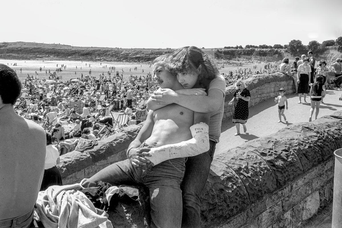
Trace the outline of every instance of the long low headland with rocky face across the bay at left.
{"label": "long low headland with rocky face across the bay at left", "polygon": [[166,49],[76,47],[62,44],[13,42],[0,44],[2,59],[58,59],[82,61],[150,62],[171,52]]}

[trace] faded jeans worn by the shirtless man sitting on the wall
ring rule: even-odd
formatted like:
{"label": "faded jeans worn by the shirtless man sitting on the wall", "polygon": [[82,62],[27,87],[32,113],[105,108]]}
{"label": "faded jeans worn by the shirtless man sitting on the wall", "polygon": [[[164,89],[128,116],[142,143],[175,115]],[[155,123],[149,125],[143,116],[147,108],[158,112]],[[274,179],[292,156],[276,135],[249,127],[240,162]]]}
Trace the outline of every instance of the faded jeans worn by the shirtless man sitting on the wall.
{"label": "faded jeans worn by the shirtless man sitting on the wall", "polygon": [[[146,146],[146,145],[142,145]],[[182,191],[185,158],[164,161],[148,170],[135,168],[129,159],[111,164],[82,185],[97,187],[103,181],[111,185],[144,184],[149,189],[151,227],[176,228],[182,222]]]}

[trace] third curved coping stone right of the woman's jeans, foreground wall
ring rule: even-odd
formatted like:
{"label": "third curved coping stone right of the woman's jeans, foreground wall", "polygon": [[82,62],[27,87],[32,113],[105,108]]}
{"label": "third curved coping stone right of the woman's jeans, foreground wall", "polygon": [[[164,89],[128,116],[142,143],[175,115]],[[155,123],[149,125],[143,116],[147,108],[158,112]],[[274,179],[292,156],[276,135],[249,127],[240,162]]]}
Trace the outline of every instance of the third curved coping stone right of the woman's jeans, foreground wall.
{"label": "third curved coping stone right of the woman's jeans, foreground wall", "polygon": [[249,141],[243,147],[256,153],[267,162],[275,176],[277,187],[303,173],[303,167],[298,156],[289,146],[273,137],[257,138]]}

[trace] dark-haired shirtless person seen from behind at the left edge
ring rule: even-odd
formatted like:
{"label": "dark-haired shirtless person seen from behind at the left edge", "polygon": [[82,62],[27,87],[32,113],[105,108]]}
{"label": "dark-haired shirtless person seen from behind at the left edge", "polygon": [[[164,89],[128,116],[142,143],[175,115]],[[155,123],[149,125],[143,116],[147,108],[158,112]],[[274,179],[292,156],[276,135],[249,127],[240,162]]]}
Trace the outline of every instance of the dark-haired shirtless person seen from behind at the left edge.
{"label": "dark-haired shirtless person seen from behind at the left edge", "polygon": [[15,113],[13,104],[20,91],[14,70],[0,64],[1,228],[30,226],[44,173],[45,133]]}

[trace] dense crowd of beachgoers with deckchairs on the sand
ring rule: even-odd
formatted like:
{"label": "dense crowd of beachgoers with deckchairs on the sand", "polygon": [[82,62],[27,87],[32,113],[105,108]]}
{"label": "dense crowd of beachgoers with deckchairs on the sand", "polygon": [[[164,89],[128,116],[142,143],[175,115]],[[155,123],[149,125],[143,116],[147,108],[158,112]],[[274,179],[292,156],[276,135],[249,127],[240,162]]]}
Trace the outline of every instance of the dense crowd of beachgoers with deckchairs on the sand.
{"label": "dense crowd of beachgoers with deckchairs on the sand", "polygon": [[[253,75],[279,72],[281,64],[282,61],[241,58],[218,61],[219,69],[235,69],[235,72],[229,70],[221,74],[226,86]],[[61,64],[54,71],[45,70],[46,78],[41,79],[37,78],[37,71],[27,74],[21,96],[14,105],[19,115],[39,123],[51,133],[61,153],[63,148],[65,151],[74,149],[79,137],[88,139],[87,142],[101,140],[123,126],[144,121],[148,112],[147,99],[159,89],[150,72],[125,78],[123,70],[119,72],[106,65],[103,66],[108,69],[106,74],[93,76],[90,69],[87,76],[82,74],[80,78],[63,81],[58,72],[65,67]]]}

